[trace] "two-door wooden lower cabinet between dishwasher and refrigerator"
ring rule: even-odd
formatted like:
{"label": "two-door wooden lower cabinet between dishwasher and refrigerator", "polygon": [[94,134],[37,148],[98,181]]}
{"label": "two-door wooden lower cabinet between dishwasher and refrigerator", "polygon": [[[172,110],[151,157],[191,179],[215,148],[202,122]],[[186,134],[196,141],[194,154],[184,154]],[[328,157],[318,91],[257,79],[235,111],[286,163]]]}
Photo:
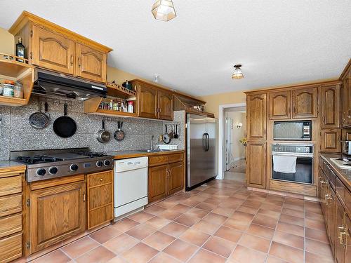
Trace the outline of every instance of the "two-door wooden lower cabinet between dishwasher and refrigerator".
{"label": "two-door wooden lower cabinet between dishwasher and refrigerator", "polygon": [[149,203],[184,189],[184,175],[184,154],[150,156],[147,187]]}

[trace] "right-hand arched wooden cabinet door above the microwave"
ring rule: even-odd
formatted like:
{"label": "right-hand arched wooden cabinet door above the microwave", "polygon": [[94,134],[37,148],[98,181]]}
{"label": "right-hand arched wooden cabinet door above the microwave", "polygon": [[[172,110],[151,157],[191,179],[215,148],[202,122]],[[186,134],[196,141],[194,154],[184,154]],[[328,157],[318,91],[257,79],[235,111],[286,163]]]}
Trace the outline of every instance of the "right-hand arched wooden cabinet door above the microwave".
{"label": "right-hand arched wooden cabinet door above the microwave", "polygon": [[317,118],[317,87],[292,90],[293,118]]}

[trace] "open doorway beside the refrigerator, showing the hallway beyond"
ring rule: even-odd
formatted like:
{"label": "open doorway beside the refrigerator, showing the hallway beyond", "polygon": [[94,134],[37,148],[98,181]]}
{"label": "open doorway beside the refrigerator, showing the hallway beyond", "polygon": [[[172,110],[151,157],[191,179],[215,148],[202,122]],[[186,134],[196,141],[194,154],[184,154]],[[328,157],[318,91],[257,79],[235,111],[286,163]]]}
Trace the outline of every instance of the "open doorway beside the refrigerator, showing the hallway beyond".
{"label": "open doorway beside the refrigerator, showing the hallway beyond", "polygon": [[246,107],[225,108],[223,172],[227,180],[246,181]]}

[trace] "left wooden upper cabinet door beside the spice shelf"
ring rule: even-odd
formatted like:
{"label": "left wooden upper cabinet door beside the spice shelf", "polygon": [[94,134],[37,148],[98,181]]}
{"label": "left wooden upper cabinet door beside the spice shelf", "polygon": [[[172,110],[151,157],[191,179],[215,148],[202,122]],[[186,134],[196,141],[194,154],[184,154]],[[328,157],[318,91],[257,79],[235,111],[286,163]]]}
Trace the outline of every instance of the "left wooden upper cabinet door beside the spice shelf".
{"label": "left wooden upper cabinet door beside the spice shelf", "polygon": [[146,85],[138,85],[138,116],[157,119],[157,90]]}

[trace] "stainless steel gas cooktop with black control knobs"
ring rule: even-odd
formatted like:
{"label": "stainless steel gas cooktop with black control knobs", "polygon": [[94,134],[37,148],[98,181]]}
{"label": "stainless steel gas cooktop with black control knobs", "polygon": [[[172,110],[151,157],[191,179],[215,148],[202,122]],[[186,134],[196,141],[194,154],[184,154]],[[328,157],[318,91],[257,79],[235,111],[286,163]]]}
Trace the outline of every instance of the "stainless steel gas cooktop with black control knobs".
{"label": "stainless steel gas cooktop with black control knobs", "polygon": [[27,182],[113,168],[113,156],[88,148],[11,151],[11,160],[27,165]]}

